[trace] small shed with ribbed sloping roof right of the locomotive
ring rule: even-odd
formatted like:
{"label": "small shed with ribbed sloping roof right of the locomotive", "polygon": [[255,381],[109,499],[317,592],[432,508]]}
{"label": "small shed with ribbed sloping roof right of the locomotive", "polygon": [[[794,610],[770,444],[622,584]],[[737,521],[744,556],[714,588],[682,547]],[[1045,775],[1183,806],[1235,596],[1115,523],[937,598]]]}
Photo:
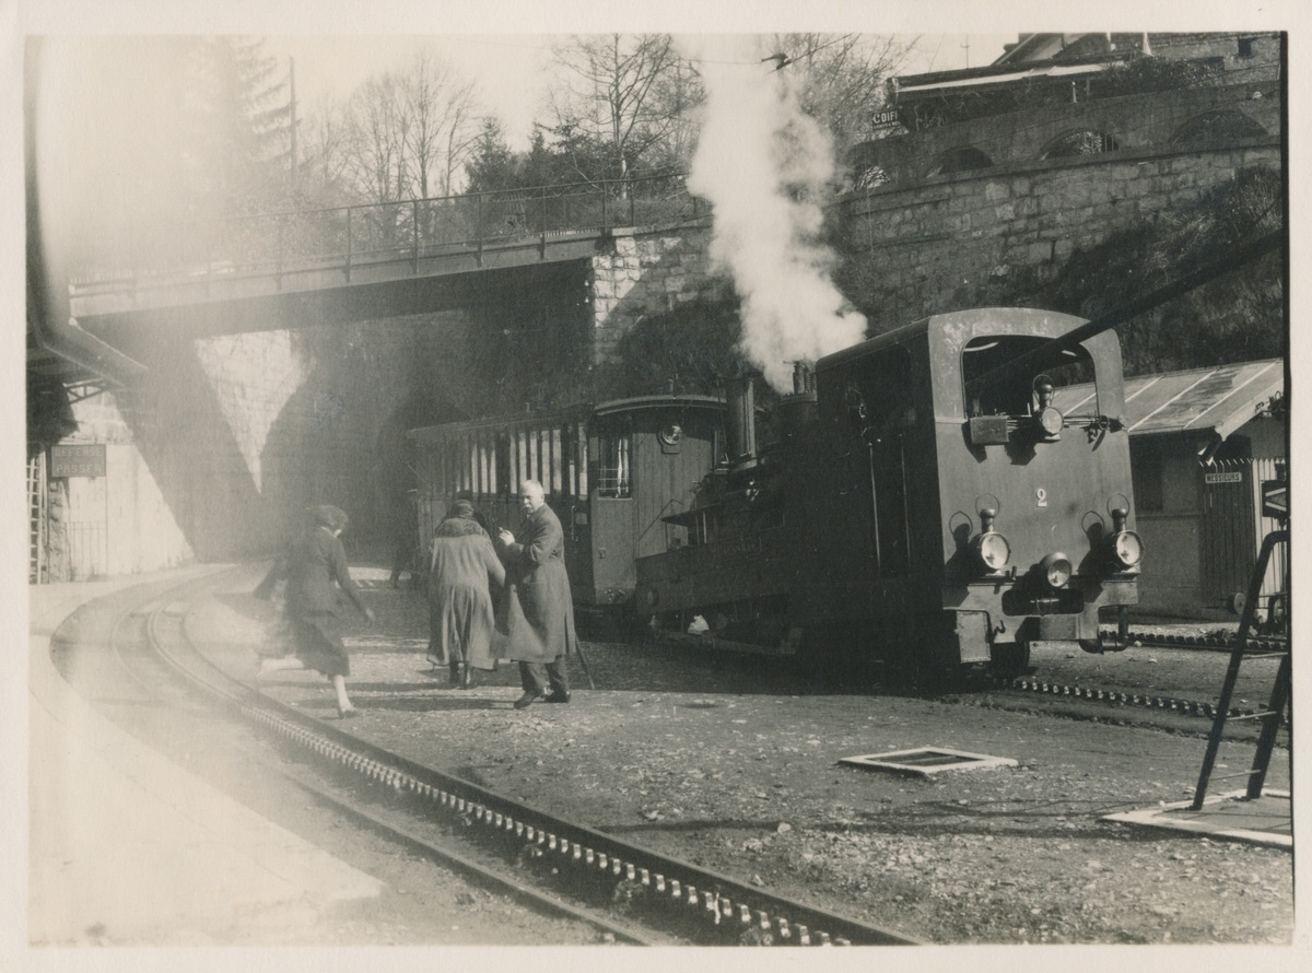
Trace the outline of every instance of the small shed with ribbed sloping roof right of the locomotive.
{"label": "small shed with ribbed sloping roof right of the locomotive", "polygon": [[[1089,386],[1061,389],[1078,412]],[[1135,530],[1144,542],[1138,614],[1233,619],[1229,598],[1248,590],[1262,539],[1262,483],[1284,475],[1288,421],[1284,362],[1267,359],[1126,379]],[[1287,591],[1273,564],[1260,608]]]}

